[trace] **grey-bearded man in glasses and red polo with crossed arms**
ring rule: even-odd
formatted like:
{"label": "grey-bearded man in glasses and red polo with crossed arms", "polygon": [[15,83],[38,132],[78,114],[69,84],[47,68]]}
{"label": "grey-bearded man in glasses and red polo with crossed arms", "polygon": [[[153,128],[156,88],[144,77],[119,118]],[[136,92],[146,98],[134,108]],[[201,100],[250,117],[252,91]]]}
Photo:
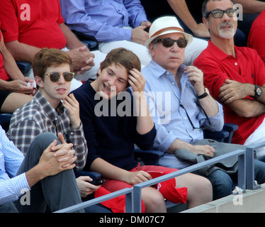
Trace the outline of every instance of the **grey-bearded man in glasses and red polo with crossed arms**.
{"label": "grey-bearded man in glasses and red polo with crossed arms", "polygon": [[[203,71],[205,87],[222,103],[225,122],[239,126],[232,143],[250,145],[265,140],[265,67],[256,50],[234,45],[236,13],[230,0],[205,0],[203,23],[210,41],[194,65]],[[258,158],[262,153],[265,150],[257,152]]]}

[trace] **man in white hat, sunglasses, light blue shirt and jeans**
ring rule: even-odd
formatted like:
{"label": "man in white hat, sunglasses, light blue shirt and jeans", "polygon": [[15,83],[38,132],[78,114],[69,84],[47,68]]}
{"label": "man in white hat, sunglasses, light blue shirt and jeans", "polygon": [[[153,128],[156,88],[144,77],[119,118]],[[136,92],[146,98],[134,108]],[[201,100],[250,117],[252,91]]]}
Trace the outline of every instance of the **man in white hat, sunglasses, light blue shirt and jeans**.
{"label": "man in white hat, sunglasses, light blue shirt and jeans", "polygon": [[[204,128],[222,130],[223,111],[205,89],[203,72],[183,65],[184,51],[191,41],[191,35],[184,33],[175,17],[162,17],[152,23],[150,39],[145,42],[152,56],[142,74],[150,114],[157,128],[154,149],[164,152],[159,165],[176,169],[196,163],[197,157],[203,155],[214,157],[243,148],[203,138]],[[213,199],[232,192],[232,176],[225,171],[213,167],[200,172],[213,185]]]}

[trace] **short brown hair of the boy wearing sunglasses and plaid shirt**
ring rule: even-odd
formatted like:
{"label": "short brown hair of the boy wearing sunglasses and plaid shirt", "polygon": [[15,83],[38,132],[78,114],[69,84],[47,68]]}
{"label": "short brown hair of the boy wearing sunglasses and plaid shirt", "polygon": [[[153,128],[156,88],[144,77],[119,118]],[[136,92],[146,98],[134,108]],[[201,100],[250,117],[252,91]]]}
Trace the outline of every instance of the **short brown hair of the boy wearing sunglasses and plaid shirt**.
{"label": "short brown hair of the boy wearing sunglasses and plaid shirt", "polygon": [[63,64],[68,64],[72,71],[72,60],[67,52],[55,48],[43,48],[35,55],[32,63],[34,77],[38,76],[44,79],[47,67],[56,67]]}

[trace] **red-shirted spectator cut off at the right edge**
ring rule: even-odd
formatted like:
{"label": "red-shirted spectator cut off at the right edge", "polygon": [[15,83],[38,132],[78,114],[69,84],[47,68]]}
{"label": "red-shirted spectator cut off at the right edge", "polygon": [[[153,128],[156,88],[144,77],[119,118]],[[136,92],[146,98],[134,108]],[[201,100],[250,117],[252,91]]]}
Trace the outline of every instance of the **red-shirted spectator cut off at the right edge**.
{"label": "red-shirted spectator cut off at the right edge", "polygon": [[252,28],[249,33],[247,46],[258,52],[261,59],[265,62],[265,9],[262,11],[256,20],[252,23]]}

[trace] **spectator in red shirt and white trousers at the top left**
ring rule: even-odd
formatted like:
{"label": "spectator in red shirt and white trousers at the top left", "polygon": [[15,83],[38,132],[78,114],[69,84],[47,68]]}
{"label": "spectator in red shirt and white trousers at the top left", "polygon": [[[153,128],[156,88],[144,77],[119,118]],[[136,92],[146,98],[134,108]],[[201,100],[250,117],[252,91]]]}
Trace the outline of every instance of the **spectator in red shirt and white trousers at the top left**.
{"label": "spectator in red shirt and white trousers at the top left", "polygon": [[[65,26],[59,0],[0,0],[0,4],[1,30],[6,48],[16,61],[33,62],[41,48],[63,49],[71,57],[74,72],[77,72],[72,89],[81,85],[78,80],[96,78],[105,55],[99,51],[90,52]],[[33,78],[32,70],[28,75]]]}

